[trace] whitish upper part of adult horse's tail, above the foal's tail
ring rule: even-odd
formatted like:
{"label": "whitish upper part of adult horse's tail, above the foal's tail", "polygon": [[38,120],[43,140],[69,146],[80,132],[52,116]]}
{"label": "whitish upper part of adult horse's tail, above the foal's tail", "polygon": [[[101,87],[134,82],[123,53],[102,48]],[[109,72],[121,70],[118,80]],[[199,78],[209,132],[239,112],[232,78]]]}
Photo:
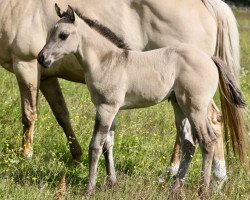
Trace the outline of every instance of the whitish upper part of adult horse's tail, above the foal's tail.
{"label": "whitish upper part of adult horse's tail, above the foal's tail", "polygon": [[231,8],[222,0],[203,0],[217,22],[215,56],[233,69],[236,78],[240,71],[239,31]]}

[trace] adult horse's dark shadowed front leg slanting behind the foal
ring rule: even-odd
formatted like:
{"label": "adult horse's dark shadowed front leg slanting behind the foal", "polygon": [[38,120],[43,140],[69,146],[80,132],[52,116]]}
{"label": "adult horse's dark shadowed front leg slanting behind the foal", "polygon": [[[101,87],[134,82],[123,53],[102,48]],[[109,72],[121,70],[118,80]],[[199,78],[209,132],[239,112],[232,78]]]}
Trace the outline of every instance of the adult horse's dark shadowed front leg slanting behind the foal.
{"label": "adult horse's dark shadowed front leg slanting behind the foal", "polygon": [[82,148],[72,129],[69,112],[57,78],[41,80],[40,89],[48,101],[57,122],[63,128],[74,161],[79,162]]}

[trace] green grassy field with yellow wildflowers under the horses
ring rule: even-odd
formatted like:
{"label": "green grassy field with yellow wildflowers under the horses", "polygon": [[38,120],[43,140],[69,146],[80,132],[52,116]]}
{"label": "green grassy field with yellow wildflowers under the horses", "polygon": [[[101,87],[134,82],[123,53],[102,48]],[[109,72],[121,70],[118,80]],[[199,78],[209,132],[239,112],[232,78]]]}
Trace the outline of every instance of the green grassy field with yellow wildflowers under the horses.
{"label": "green grassy field with yellow wildflowers under the horses", "polygon": [[[241,33],[241,84],[248,110],[250,103],[250,13],[236,12]],[[0,69],[0,199],[53,199],[62,175],[67,171],[66,199],[81,199],[88,172],[88,144],[94,123],[94,107],[86,86],[61,81],[72,124],[83,147],[81,166],[71,166],[71,156],[62,129],[45,99],[40,96],[34,135],[34,156],[19,156],[22,140],[19,91],[15,77]],[[248,118],[248,122],[250,119]],[[166,102],[148,109],[120,112],[114,156],[119,186],[105,187],[104,159],[99,166],[95,199],[168,199],[173,180],[159,185],[158,175],[166,170],[175,139],[173,110]],[[186,199],[197,199],[201,155],[190,166],[184,187]],[[250,199],[250,177],[238,161],[228,170],[229,180],[211,199]]]}

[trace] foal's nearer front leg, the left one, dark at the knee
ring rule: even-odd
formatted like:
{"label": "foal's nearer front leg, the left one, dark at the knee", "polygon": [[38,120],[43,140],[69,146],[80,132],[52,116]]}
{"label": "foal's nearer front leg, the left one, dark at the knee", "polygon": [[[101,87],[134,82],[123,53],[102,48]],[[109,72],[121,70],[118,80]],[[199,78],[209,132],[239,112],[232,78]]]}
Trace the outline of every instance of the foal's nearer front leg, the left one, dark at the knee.
{"label": "foal's nearer front leg, the left one, dark at the knee", "polygon": [[87,193],[90,195],[95,192],[98,161],[117,112],[118,108],[114,106],[102,104],[97,107],[95,128],[89,145],[89,180]]}

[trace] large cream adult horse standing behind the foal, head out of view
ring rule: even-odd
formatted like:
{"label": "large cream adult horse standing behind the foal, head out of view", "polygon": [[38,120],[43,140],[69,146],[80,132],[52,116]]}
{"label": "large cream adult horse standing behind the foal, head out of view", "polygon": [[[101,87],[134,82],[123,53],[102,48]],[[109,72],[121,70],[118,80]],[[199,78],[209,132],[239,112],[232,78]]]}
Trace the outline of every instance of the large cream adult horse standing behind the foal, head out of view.
{"label": "large cream adult horse standing behind the foal, head out of view", "polygon": [[[220,0],[57,0],[108,25],[121,35],[131,49],[149,50],[179,42],[191,43],[210,55],[217,54],[235,71],[239,69],[238,31],[230,8]],[[0,1],[0,64],[16,75],[22,101],[24,125],[23,154],[32,155],[33,129],[37,95],[40,88],[58,123],[64,129],[71,154],[79,159],[81,148],[71,127],[69,114],[57,77],[85,83],[84,71],[74,56],[63,59],[49,70],[41,69],[36,56],[46,42],[48,32],[57,21],[51,0]],[[210,12],[209,12],[210,11]],[[187,20],[188,19],[188,20]],[[68,67],[71,66],[71,67]],[[212,109],[216,114],[216,110]],[[217,116],[217,114],[216,114]],[[214,122],[212,117],[209,117]],[[217,125],[217,117],[214,122]],[[176,120],[177,124],[181,124]],[[188,124],[188,123],[185,123]],[[185,129],[178,126],[178,132]],[[220,133],[219,133],[220,135]],[[218,139],[218,144],[222,139]],[[177,140],[176,149],[180,149]],[[172,162],[178,169],[178,151]],[[224,178],[223,148],[216,153],[217,174]],[[220,164],[222,163],[222,164]],[[218,177],[219,177],[218,176]]]}

